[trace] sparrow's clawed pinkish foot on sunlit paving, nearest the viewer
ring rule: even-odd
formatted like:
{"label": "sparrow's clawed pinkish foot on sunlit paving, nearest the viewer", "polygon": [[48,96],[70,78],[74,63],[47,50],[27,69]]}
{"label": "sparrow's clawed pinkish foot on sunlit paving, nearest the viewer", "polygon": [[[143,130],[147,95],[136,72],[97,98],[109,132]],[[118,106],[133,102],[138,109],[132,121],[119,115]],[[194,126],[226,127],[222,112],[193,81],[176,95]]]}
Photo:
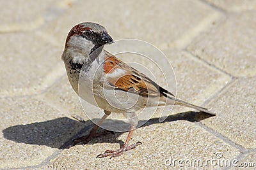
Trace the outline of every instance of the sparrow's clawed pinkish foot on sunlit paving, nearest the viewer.
{"label": "sparrow's clawed pinkish foot on sunlit paving, nearest the viewer", "polygon": [[127,150],[131,150],[136,148],[136,146],[141,145],[142,143],[140,141],[132,144],[132,145],[127,145],[125,144],[124,146],[122,146],[122,148],[118,149],[118,150],[106,150],[104,153],[100,153],[99,155],[97,155],[97,158],[103,158],[103,157],[108,157],[110,156],[110,159],[113,157],[118,157],[120,155],[122,155],[125,151]]}

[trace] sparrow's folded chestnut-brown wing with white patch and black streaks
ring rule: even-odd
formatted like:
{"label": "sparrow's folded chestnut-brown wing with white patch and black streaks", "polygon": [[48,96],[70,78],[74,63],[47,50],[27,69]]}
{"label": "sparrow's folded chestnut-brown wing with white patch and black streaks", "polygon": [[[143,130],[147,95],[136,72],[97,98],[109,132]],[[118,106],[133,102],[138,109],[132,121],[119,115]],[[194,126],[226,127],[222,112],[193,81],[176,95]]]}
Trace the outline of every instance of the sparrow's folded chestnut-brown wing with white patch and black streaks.
{"label": "sparrow's folded chestnut-brown wing with white patch and black streaks", "polygon": [[134,90],[141,96],[166,96],[166,94],[172,93],[159,87],[157,83],[150,80],[145,74],[128,66],[115,56],[106,52],[107,57],[104,62],[104,72],[107,74],[107,80],[109,83],[118,89],[125,91]]}

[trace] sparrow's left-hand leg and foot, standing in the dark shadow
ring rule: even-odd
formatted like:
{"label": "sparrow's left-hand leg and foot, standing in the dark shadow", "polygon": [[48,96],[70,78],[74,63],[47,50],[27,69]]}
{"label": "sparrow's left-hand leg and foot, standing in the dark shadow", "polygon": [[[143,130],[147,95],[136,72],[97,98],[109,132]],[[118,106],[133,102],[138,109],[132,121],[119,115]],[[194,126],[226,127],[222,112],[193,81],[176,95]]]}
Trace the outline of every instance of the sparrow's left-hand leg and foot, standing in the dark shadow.
{"label": "sparrow's left-hand leg and foot, standing in the dark shadow", "polygon": [[88,143],[90,141],[90,139],[92,139],[93,135],[99,128],[99,125],[102,124],[102,122],[104,122],[104,120],[108,117],[108,115],[110,115],[111,112],[104,110],[104,113],[105,113],[105,115],[99,120],[99,122],[97,124],[94,125],[94,127],[92,128],[90,133],[86,136],[82,136],[80,138],[74,139],[73,145],[77,145],[77,143],[83,143],[83,145],[84,145],[84,144]]}

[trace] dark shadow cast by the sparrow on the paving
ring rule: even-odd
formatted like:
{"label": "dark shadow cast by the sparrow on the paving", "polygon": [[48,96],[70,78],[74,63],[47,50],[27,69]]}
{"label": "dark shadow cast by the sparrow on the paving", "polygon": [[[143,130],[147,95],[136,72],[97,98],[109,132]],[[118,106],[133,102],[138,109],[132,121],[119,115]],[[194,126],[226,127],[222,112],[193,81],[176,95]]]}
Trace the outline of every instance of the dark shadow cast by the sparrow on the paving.
{"label": "dark shadow cast by the sparrow on the paving", "polygon": [[[177,120],[187,120],[189,122],[199,122],[205,118],[212,117],[207,113],[188,111],[178,113],[176,115],[169,115],[164,122],[173,122]],[[93,120],[95,122],[97,120]],[[107,124],[108,124],[108,120]],[[124,122],[120,121],[120,124]],[[159,124],[159,118],[151,118],[143,126]],[[111,124],[111,122],[109,122]],[[140,124],[140,122],[139,122]],[[26,125],[13,125],[3,130],[5,139],[15,141],[17,143],[26,143],[29,145],[45,145],[51,148],[67,149],[72,146],[72,140],[82,136],[84,133],[90,132],[92,122],[86,120],[85,122],[78,122],[71,118],[61,117],[45,122],[35,122]],[[140,127],[139,127],[140,128]],[[119,143],[124,145],[124,141],[118,138],[124,132],[109,132],[104,129],[99,129],[100,135],[95,135],[88,143]],[[76,134],[76,135],[74,135]]]}

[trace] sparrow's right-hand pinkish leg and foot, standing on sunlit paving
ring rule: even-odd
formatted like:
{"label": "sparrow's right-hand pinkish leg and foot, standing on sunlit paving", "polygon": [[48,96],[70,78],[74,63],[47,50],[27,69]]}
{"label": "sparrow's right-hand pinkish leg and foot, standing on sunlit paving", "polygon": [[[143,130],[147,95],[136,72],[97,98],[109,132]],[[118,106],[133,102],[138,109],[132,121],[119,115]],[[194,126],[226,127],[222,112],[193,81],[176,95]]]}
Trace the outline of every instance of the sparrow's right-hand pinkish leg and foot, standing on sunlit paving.
{"label": "sparrow's right-hand pinkish leg and foot, standing on sunlit paving", "polygon": [[120,148],[118,150],[106,150],[106,152],[97,155],[97,158],[103,158],[103,157],[108,157],[108,156],[110,156],[110,158],[118,157],[118,156],[122,155],[125,151],[134,149],[134,148],[136,148],[136,146],[141,145],[140,141],[138,141],[132,145],[128,145],[129,141],[131,140],[133,131],[134,131],[134,126],[131,126],[128,137],[127,137],[124,145],[122,146],[122,148]]}

